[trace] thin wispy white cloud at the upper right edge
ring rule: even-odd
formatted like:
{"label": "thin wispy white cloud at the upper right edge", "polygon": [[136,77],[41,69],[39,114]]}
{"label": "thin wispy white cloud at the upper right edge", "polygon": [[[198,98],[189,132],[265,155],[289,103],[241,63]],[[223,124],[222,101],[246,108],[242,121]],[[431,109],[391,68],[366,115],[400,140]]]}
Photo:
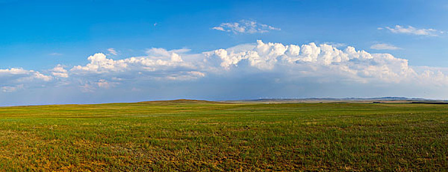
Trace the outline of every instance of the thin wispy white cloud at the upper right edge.
{"label": "thin wispy white cloud at the upper right edge", "polygon": [[444,31],[437,30],[437,29],[418,29],[414,28],[412,26],[403,27],[401,25],[396,25],[395,28],[390,27],[384,27],[384,28],[378,28],[381,29],[387,29],[391,31],[392,33],[405,33],[405,34],[414,34],[414,35],[426,35],[426,36],[438,36],[440,34],[443,34]]}

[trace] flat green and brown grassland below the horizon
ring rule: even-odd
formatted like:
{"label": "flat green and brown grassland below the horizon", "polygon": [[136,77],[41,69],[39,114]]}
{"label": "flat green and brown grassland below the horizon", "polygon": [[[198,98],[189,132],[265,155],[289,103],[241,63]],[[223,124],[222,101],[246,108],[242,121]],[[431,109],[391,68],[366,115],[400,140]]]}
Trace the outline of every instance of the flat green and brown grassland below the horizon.
{"label": "flat green and brown grassland below the horizon", "polygon": [[447,171],[448,105],[0,108],[1,171]]}

